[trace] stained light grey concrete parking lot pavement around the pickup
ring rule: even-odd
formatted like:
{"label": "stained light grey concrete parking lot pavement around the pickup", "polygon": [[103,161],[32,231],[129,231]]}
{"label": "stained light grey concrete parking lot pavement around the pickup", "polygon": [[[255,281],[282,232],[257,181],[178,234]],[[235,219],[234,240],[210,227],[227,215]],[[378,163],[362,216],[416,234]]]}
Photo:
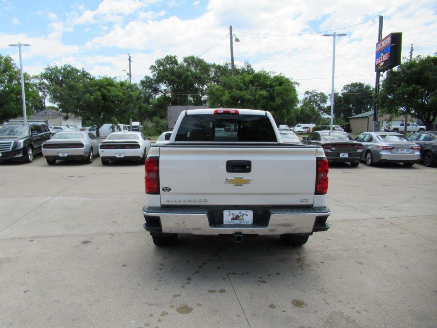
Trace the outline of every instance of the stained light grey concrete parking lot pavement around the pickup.
{"label": "stained light grey concrete parking lot pavement around the pickup", "polygon": [[0,164],[1,327],[435,327],[437,169],[332,165],[298,248],[142,229],[141,165]]}

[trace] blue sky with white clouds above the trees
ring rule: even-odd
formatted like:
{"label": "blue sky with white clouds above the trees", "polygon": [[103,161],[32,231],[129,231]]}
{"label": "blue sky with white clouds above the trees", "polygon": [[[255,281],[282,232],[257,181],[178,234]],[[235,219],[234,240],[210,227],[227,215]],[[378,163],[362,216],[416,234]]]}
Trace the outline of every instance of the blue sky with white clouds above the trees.
{"label": "blue sky with white clouds above the trees", "polygon": [[[69,63],[95,76],[126,79],[128,53],[133,81],[149,74],[158,58],[199,56],[207,62],[230,61],[229,25],[236,64],[282,73],[305,90],[329,93],[332,37],[336,43],[335,89],[344,84],[375,84],[378,16],[383,36],[403,32],[402,56],[437,52],[436,0],[0,0],[0,54],[24,70],[40,73],[51,64]],[[210,49],[210,47],[212,47]],[[208,50],[209,49],[209,50]]]}

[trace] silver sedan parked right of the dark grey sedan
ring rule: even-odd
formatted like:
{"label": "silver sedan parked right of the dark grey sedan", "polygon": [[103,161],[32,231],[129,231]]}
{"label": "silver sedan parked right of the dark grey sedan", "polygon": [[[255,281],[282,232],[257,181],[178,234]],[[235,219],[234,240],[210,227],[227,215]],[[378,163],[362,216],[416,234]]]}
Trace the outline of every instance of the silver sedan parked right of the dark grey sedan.
{"label": "silver sedan parked right of the dark grey sedan", "polygon": [[362,160],[375,163],[403,163],[411,167],[420,160],[420,147],[395,132],[365,132],[355,138],[363,144]]}

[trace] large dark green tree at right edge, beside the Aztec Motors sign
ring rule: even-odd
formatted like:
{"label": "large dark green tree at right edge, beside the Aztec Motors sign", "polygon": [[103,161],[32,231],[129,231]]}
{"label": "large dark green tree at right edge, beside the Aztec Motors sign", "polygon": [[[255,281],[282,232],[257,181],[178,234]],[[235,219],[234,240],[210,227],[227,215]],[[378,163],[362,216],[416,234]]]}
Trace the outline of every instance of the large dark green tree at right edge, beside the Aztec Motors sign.
{"label": "large dark green tree at right edge, beside the Aztec Motors sign", "polygon": [[437,56],[417,56],[389,70],[378,96],[381,114],[411,115],[427,129],[437,118]]}

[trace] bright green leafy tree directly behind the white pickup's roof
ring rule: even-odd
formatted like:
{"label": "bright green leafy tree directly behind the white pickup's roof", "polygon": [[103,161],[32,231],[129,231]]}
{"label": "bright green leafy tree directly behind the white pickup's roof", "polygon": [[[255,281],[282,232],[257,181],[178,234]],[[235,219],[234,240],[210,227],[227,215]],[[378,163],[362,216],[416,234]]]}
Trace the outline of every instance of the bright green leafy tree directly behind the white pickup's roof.
{"label": "bright green leafy tree directly behind the white pickup's roof", "polygon": [[277,122],[288,122],[298,105],[297,83],[271,72],[243,72],[223,76],[208,87],[208,104],[215,108],[251,108],[272,113]]}

